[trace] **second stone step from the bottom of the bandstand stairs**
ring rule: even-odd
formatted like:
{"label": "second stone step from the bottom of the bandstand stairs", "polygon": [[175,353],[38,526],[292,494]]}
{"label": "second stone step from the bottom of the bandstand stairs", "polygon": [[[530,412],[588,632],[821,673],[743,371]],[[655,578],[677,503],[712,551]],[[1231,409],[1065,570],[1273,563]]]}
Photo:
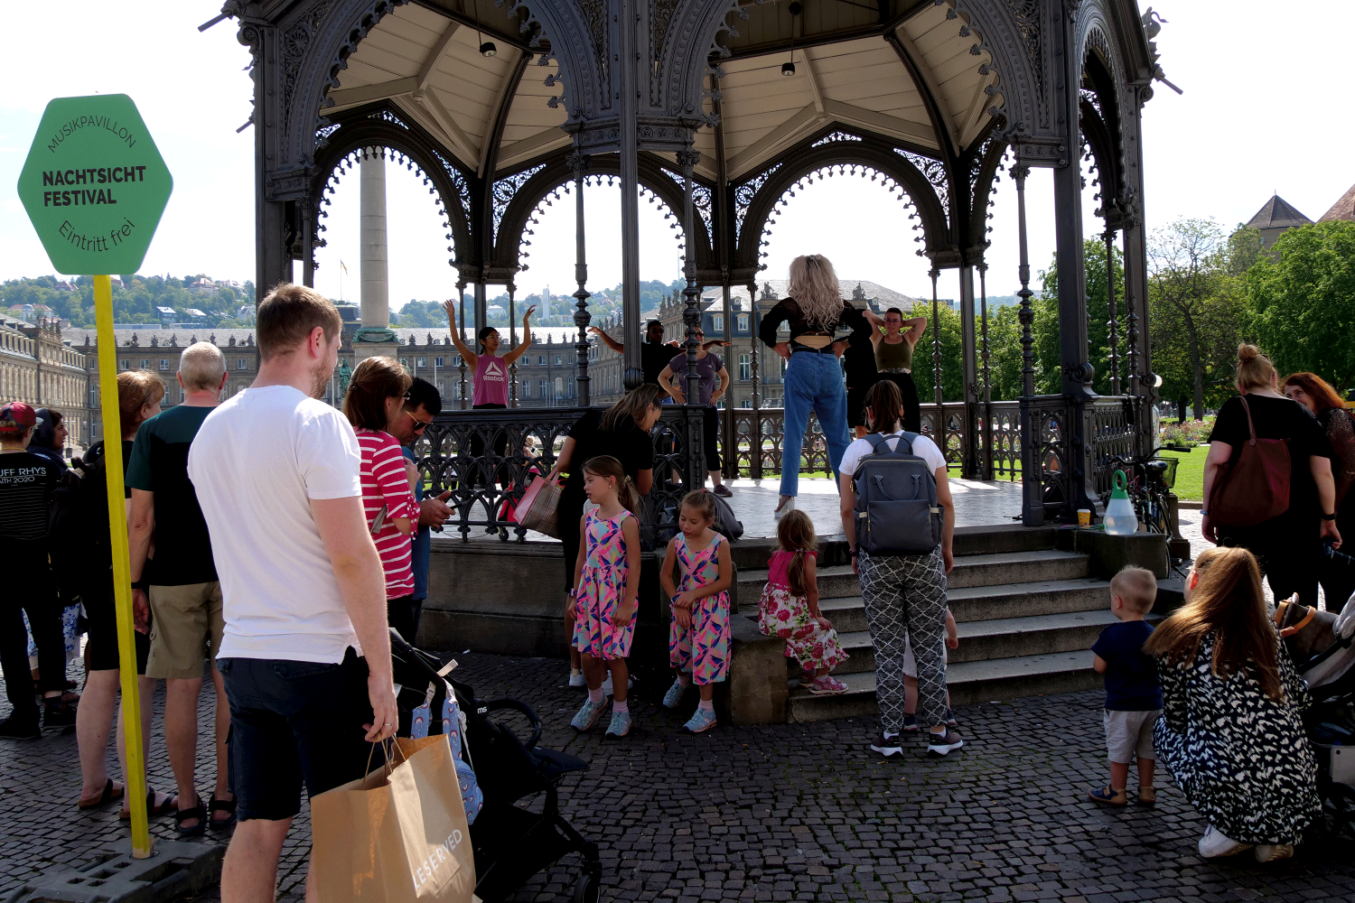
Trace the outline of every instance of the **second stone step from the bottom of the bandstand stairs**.
{"label": "second stone step from the bottom of the bandstand stairs", "polygon": [[[831,616],[829,616],[831,617]],[[1024,655],[1075,653],[1091,648],[1100,632],[1115,623],[1107,607],[1096,612],[999,617],[957,624],[959,648],[947,650],[951,665]],[[836,621],[835,621],[836,625]],[[869,631],[837,632],[851,657],[837,667],[844,674],[875,670],[875,650]]]}

